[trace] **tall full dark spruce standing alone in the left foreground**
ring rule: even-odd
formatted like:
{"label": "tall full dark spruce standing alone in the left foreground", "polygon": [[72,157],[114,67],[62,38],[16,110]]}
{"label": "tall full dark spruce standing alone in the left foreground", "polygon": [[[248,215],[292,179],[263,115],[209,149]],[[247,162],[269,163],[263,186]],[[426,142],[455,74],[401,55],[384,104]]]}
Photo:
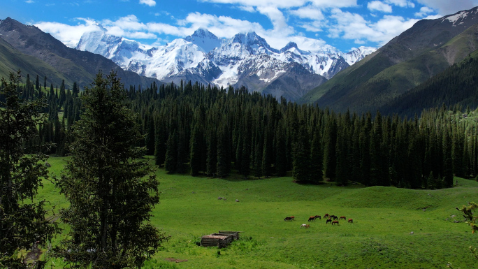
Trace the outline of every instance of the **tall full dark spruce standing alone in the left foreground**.
{"label": "tall full dark spruce standing alone in the left foreground", "polygon": [[125,97],[114,71],[98,73],[72,127],[71,160],[58,181],[70,231],[55,255],[73,268],[139,268],[167,238],[150,224],[159,182],[140,158],[144,148],[133,147],[143,137]]}

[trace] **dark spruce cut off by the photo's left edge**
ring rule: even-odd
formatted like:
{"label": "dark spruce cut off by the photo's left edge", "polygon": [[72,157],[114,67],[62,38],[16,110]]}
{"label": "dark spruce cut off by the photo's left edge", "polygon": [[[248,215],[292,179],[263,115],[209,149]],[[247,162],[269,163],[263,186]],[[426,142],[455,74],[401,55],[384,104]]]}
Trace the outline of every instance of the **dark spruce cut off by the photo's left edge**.
{"label": "dark spruce cut off by the photo's left edge", "polygon": [[[34,201],[42,178],[48,178],[43,154],[24,154],[24,143],[36,135],[43,119],[43,100],[22,101],[17,95],[20,71],[1,80],[0,101],[0,268],[28,268],[17,253],[45,245],[59,230],[45,219],[45,201]],[[27,202],[31,201],[31,202]],[[36,268],[43,268],[42,262]]]}

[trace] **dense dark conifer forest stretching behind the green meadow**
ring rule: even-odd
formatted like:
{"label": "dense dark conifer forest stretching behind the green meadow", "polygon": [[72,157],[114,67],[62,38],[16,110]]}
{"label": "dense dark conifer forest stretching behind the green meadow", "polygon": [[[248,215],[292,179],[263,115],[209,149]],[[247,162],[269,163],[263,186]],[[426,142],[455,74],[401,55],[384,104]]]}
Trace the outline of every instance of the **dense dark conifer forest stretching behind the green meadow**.
{"label": "dense dark conifer forest stretching behind the green meadow", "polygon": [[[22,99],[48,103],[47,120],[29,145],[54,143],[45,154],[67,155],[71,125],[82,112],[80,89],[40,84],[27,75]],[[42,88],[43,86],[43,88]],[[2,85],[3,87],[3,85]],[[412,119],[277,100],[245,88],[184,82],[124,89],[147,154],[168,173],[208,177],[280,177],[297,182],[440,189],[453,176],[478,173],[477,121],[457,107],[423,110]],[[469,108],[468,108],[469,109]],[[60,116],[59,116],[60,115]],[[62,117],[61,117],[62,115]]]}

